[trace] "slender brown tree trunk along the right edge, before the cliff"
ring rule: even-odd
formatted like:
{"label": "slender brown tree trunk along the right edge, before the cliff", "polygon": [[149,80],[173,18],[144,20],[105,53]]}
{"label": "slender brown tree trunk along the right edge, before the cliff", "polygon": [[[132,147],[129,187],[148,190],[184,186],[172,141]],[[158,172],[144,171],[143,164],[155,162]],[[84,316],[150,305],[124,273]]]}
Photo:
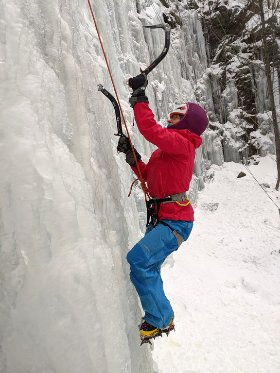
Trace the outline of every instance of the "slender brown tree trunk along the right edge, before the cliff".
{"label": "slender brown tree trunk along the right edge, before the cliff", "polygon": [[276,114],[275,100],[274,100],[274,94],[273,94],[273,83],[271,79],[270,60],[269,60],[268,44],[267,44],[266,31],[265,31],[265,20],[264,20],[262,1],[263,0],[259,0],[260,16],[261,16],[261,22],[262,22],[263,55],[264,55],[265,74],[266,74],[268,92],[269,92],[270,107],[271,107],[271,113],[272,113],[272,123],[273,123],[273,128],[274,128],[276,165],[277,165],[277,183],[276,183],[275,188],[278,190],[279,185],[280,185],[280,133],[279,133],[279,126],[277,123],[277,114]]}

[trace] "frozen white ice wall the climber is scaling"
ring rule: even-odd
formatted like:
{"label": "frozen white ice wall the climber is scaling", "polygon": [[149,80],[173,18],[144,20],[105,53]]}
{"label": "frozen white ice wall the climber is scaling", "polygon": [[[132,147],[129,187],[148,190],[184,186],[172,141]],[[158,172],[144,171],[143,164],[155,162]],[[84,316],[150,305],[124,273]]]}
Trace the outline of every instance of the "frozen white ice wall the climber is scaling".
{"label": "frozen white ice wall the climber is scaling", "polygon": [[[142,28],[159,23],[162,5],[92,7],[147,160],[153,148],[131,126],[125,81],[162,50],[162,30]],[[174,103],[196,100],[191,78],[211,105],[205,64],[184,46],[203,45],[201,26],[195,11],[184,17],[189,36],[175,31],[172,42],[184,63],[171,50],[149,76],[162,124]],[[97,90],[113,92],[87,1],[0,1],[0,77],[0,372],[153,372],[125,259],[144,230],[143,196],[135,186],[127,198],[133,175],[116,153],[113,107]],[[217,134],[205,136],[194,200],[210,162],[223,162]]]}

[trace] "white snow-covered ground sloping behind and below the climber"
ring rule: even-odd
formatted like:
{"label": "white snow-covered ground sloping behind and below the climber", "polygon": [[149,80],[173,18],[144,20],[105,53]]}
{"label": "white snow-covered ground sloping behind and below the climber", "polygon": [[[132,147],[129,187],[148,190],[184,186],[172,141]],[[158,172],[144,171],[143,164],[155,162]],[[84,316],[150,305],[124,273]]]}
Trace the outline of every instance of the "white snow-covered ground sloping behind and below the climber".
{"label": "white snow-covered ground sloping behind and below the climber", "polygon": [[[152,355],[160,373],[279,373],[280,215],[242,165],[212,170],[191,237],[162,270],[175,333]],[[250,170],[280,206],[276,163]]]}

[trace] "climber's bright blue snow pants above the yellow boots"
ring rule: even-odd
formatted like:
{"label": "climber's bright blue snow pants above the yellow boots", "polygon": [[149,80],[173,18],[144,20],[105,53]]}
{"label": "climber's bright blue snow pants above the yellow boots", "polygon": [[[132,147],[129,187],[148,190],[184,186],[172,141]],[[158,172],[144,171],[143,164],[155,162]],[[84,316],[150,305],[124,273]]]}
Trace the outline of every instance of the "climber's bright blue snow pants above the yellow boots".
{"label": "climber's bright blue snow pants above the yellow boots", "polygon": [[[161,220],[176,230],[184,241],[192,231],[192,221]],[[145,311],[144,319],[161,329],[173,318],[173,309],[163,290],[160,267],[166,257],[178,249],[172,230],[163,224],[148,225],[145,236],[127,254],[130,278]]]}

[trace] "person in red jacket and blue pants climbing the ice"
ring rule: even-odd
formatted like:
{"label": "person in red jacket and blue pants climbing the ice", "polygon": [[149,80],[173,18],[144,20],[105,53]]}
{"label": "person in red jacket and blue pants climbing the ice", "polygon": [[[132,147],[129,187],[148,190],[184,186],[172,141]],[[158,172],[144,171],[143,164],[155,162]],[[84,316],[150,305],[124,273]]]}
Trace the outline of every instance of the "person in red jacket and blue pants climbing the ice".
{"label": "person in red jacket and blue pants climbing the ice", "polygon": [[[145,164],[135,150],[142,178],[152,197],[148,205],[149,224],[145,236],[127,254],[130,278],[145,312],[139,325],[142,342],[169,334],[174,329],[174,312],[164,294],[160,267],[166,257],[187,240],[192,231],[193,209],[187,200],[194,166],[195,149],[202,143],[200,135],[208,125],[204,109],[192,102],[178,105],[166,128],[157,124],[149,108],[145,74],[129,80],[133,93],[131,107],[140,133],[157,146]],[[117,147],[139,177],[127,137],[120,137]]]}

